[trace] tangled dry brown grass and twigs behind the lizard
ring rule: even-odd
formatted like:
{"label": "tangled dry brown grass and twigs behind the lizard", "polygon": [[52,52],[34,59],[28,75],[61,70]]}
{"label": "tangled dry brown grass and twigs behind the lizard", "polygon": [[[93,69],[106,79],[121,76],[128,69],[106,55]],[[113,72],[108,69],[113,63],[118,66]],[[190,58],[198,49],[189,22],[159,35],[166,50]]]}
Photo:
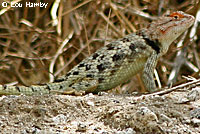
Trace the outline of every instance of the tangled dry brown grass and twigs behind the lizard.
{"label": "tangled dry brown grass and twigs behind the lizard", "polygon": [[[30,0],[48,3],[46,8],[30,8],[25,6],[25,0],[18,1],[23,7],[0,5],[1,84],[52,81],[104,44],[135,32],[163,13],[182,10],[196,15],[200,8],[198,0],[61,0],[57,14],[54,12],[58,23],[53,25],[51,11],[56,10],[55,1]],[[178,70],[176,83],[184,81],[182,75],[199,77],[194,67],[200,68],[200,42],[199,39],[190,42],[188,35],[181,57],[187,62]],[[177,51],[176,45],[172,45],[158,63],[162,85],[167,84],[169,74],[176,68],[173,65]]]}

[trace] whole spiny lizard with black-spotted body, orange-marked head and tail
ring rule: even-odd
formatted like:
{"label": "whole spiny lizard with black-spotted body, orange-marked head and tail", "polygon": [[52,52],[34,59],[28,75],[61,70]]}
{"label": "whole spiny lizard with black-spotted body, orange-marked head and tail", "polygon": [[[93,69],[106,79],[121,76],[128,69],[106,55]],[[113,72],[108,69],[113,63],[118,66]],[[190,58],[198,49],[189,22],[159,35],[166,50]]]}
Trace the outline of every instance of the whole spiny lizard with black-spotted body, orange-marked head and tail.
{"label": "whole spiny lizard with black-spotted body, orange-marked head and tail", "polygon": [[146,29],[113,41],[84,59],[65,76],[44,85],[0,85],[2,95],[97,93],[112,89],[138,72],[150,92],[156,90],[153,72],[159,57],[186,31],[195,18],[181,11],[159,17]]}

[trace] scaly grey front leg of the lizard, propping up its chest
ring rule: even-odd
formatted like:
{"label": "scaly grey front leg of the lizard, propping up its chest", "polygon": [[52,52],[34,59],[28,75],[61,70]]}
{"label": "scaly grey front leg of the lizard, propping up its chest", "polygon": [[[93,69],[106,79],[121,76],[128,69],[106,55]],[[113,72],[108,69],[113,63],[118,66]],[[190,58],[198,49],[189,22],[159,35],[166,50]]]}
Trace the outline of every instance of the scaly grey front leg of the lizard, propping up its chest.
{"label": "scaly grey front leg of the lizard, propping up its chest", "polygon": [[145,88],[149,92],[153,92],[156,90],[156,84],[154,82],[153,74],[159,57],[159,54],[157,54],[156,51],[153,51],[151,56],[147,59],[147,62],[144,66],[144,70],[142,72],[142,81],[144,83]]}

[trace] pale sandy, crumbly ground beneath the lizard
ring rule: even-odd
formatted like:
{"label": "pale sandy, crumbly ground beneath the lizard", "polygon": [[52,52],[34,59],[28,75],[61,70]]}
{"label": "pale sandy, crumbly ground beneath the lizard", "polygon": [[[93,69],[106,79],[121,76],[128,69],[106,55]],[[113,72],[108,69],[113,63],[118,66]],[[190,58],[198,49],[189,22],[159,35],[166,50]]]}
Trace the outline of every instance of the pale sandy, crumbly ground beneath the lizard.
{"label": "pale sandy, crumbly ground beneath the lizard", "polygon": [[1,96],[0,133],[199,134],[200,87],[165,95]]}

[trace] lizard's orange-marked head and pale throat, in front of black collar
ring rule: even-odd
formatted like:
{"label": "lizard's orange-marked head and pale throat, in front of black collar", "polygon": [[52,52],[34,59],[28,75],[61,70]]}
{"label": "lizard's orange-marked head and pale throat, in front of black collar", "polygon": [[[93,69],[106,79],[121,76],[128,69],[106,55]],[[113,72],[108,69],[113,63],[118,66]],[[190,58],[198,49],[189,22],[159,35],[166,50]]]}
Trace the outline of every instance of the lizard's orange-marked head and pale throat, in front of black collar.
{"label": "lizard's orange-marked head and pale throat, in front of black collar", "polygon": [[173,12],[153,21],[148,26],[148,36],[158,40],[162,53],[166,53],[169,45],[194,23],[192,15],[182,11]]}

